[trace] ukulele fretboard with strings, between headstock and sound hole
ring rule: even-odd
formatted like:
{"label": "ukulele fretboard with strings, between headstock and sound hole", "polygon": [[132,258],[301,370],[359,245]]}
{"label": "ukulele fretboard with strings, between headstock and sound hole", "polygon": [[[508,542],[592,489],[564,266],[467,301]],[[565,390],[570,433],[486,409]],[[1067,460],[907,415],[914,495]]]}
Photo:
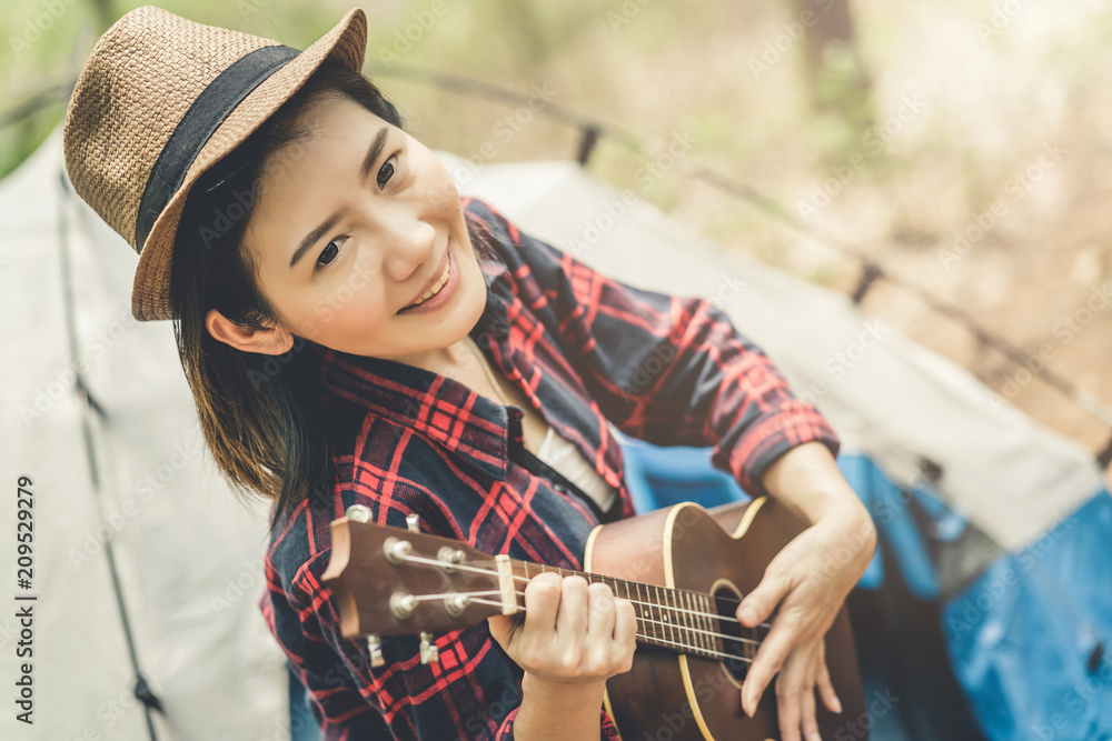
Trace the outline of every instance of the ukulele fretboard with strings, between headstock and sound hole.
{"label": "ukulele fretboard with strings, between headstock and sound hole", "polygon": [[[752,661],[763,638],[758,635],[757,629],[746,628],[741,623],[731,621],[728,628],[723,625],[718,615],[728,615],[732,619],[733,610],[728,605],[718,604],[721,598],[705,592],[646,584],[528,561],[514,560],[512,563],[514,573],[525,579],[532,579],[538,573],[554,572],[562,577],[577,574],[588,583],[609,584],[615,597],[628,600],[633,604],[637,615],[639,643],[709,659],[741,655],[744,657],[743,660]],[[524,605],[520,593],[518,603]],[[737,600],[734,599],[733,607],[736,608],[736,604]],[[731,650],[724,649],[726,643],[732,644]]]}

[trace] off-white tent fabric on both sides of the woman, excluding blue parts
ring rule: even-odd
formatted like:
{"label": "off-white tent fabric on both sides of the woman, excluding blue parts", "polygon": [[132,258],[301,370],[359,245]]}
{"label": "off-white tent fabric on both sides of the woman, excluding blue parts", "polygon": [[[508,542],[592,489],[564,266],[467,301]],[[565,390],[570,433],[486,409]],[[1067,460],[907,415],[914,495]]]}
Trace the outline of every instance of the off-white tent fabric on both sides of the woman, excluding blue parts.
{"label": "off-white tent fabric on both sides of the woman, excluding blue parts", "polygon": [[[726,253],[574,163],[476,168],[438,156],[461,192],[588,264],[714,299],[815,400],[847,452],[871,455],[904,482],[921,457],[941,464],[940,493],[1002,547],[1033,541],[1100,489],[1088,450],[844,297]],[[63,314],[61,159],[56,131],[0,183],[0,440],[9,502],[19,475],[34,481],[38,595],[36,724],[4,713],[0,738],[148,738],[100,547],[110,534],[142,669],[167,708],[165,721],[156,717],[159,738],[282,741],[285,660],[256,604],[266,507],[241,505],[205,449],[170,324],[131,318],[133,252],[71,197],[78,352],[106,412],[92,435],[96,499]],[[0,508],[0,529],[16,532],[13,503]],[[13,541],[0,548],[9,584]],[[14,607],[0,614],[0,663],[14,677]]]}

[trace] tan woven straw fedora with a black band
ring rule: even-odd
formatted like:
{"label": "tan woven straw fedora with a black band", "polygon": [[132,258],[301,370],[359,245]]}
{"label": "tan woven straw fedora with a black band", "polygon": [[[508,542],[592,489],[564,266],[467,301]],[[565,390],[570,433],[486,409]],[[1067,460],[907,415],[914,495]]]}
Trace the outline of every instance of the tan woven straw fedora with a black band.
{"label": "tan woven straw fedora with a black band", "polygon": [[300,52],[153,7],[101,37],[66,111],[66,169],[78,196],[139,253],[136,319],[173,318],[170,257],[190,186],[322,61],[361,71],[366,47],[359,8]]}

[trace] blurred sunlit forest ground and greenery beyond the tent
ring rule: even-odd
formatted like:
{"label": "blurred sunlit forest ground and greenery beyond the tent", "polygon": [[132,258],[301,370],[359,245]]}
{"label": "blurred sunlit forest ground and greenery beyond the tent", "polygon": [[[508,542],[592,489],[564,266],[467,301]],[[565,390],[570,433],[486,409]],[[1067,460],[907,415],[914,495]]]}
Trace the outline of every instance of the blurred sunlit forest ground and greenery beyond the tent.
{"label": "blurred sunlit forest ground and greenery beyond the tent", "polygon": [[[0,176],[59,122],[57,91],[96,37],[139,4],[3,4]],[[304,48],[350,3],[162,6]],[[570,118],[612,127],[620,136],[603,136],[589,160],[598,178],[729,249],[845,293],[858,286],[862,258],[875,261],[892,280],[864,294],[867,313],[1094,451],[1110,443],[1112,312],[1108,300],[1086,309],[1112,279],[1108,3],[365,8],[367,72],[427,146],[467,156],[490,139],[471,154],[478,166],[566,159],[580,142]],[[520,127],[507,120],[516,101],[484,84],[553,94],[545,116]],[[626,137],[649,156],[683,138],[681,162],[653,169]],[[713,177],[692,177],[703,169]]]}

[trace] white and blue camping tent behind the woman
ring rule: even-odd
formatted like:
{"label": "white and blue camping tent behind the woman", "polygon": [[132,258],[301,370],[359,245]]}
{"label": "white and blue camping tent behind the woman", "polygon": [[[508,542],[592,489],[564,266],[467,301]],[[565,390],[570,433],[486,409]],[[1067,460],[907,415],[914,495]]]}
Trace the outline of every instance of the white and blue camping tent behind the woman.
{"label": "white and blue camping tent behind the woman", "polygon": [[[866,578],[882,593],[898,575],[937,605],[949,668],[987,737],[1112,735],[1112,500],[1089,451],[846,298],[727,252],[575,163],[438,156],[461,192],[529,233],[626,282],[709,297],[765,349],[837,429],[843,470],[878,520],[885,555]],[[170,324],[128,310],[133,253],[63,178],[56,131],[0,182],[0,429],[7,480],[33,480],[38,597],[36,725],[7,713],[0,737],[149,738],[111,554],[166,710],[158,738],[285,739],[284,660],[256,608],[266,508],[240,504],[216,471]],[[629,475],[663,460],[627,445]],[[638,505],[661,501],[645,492]],[[14,507],[0,518],[14,532]],[[0,619],[6,677],[16,630]]]}

